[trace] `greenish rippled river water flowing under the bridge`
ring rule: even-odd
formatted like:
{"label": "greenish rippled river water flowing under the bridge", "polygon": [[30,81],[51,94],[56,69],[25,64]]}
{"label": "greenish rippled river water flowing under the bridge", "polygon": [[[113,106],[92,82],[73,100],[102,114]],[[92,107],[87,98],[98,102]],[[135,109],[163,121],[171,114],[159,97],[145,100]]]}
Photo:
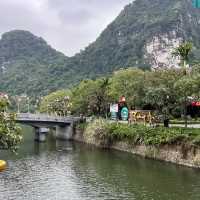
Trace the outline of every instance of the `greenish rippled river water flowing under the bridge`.
{"label": "greenish rippled river water flowing under the bridge", "polygon": [[18,155],[0,151],[4,200],[199,200],[200,170],[73,142],[34,142],[30,129]]}

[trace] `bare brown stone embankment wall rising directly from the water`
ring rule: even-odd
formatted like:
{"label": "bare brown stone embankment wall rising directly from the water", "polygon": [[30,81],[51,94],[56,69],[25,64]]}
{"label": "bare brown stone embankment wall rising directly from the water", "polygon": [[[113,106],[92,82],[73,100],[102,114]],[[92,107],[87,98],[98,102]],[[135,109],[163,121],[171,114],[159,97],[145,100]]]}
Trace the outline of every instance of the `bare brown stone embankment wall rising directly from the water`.
{"label": "bare brown stone embankment wall rising directly from the water", "polygon": [[133,145],[128,141],[118,141],[105,146],[95,138],[88,137],[88,134],[82,129],[76,129],[73,139],[75,141],[83,142],[89,145],[95,145],[100,148],[110,148],[133,153],[145,158],[171,162],[193,168],[200,168],[200,148],[197,146],[190,146],[180,143],[172,145],[160,145],[156,147],[150,145]]}

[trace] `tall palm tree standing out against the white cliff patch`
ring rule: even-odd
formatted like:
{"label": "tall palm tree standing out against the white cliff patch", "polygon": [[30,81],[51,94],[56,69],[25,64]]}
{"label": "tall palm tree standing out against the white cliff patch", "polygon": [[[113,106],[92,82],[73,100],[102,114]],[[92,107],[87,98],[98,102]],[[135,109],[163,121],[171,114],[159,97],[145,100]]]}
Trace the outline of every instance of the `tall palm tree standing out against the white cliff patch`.
{"label": "tall palm tree standing out against the white cliff patch", "polygon": [[[173,52],[174,56],[178,56],[181,59],[181,66],[184,71],[184,76],[187,75],[187,62],[189,61],[189,54],[192,50],[191,42],[184,42],[180,44],[175,51]],[[184,119],[185,119],[185,127],[187,128],[187,96],[184,96]]]}

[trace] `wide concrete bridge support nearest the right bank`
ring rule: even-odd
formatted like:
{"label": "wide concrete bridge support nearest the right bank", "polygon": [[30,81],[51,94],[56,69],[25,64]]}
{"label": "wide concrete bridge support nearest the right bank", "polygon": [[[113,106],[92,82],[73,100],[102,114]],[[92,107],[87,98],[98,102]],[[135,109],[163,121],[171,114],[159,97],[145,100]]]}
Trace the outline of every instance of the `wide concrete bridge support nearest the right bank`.
{"label": "wide concrete bridge support nearest the right bank", "polygon": [[56,126],[56,138],[61,140],[71,140],[74,133],[73,123],[66,126]]}

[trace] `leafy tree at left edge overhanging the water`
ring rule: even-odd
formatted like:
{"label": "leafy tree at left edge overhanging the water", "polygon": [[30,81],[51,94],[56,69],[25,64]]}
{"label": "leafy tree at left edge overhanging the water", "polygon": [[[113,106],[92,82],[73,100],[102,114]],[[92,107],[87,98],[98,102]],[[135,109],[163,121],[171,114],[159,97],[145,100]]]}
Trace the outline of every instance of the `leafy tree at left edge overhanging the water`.
{"label": "leafy tree at left edge overhanging the water", "polygon": [[9,100],[7,96],[0,96],[0,149],[16,152],[22,141],[21,128],[16,124],[15,113],[7,113]]}

